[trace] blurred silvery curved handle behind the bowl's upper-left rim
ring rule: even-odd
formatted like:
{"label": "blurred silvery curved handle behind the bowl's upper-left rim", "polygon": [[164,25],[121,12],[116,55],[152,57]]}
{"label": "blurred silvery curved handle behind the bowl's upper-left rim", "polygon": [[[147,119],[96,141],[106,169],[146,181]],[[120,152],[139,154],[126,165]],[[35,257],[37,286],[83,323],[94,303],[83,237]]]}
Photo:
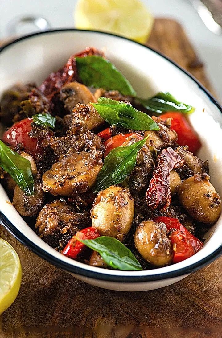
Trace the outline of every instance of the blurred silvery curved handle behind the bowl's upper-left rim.
{"label": "blurred silvery curved handle behind the bowl's upper-left rim", "polygon": [[51,28],[49,22],[40,16],[30,15],[27,17],[20,17],[20,18],[13,18],[9,21],[7,24],[6,30],[8,36],[17,37],[18,34],[18,28],[19,26],[23,24],[33,24],[34,26],[38,27],[38,30],[40,31],[46,31]]}

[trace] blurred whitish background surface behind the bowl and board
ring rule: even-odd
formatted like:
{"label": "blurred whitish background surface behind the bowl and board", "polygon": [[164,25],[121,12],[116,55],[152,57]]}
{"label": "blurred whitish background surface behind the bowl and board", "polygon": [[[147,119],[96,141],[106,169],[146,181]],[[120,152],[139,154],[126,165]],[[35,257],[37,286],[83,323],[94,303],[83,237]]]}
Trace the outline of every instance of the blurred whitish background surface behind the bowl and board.
{"label": "blurred whitish background surface behind the bowl and board", "polygon": [[[180,22],[203,61],[208,78],[213,83],[217,97],[222,102],[222,35],[216,35],[206,28],[188,0],[143,1],[154,16],[170,17]],[[9,20],[23,15],[38,14],[43,16],[49,21],[52,28],[74,27],[75,5],[76,0],[1,0],[1,39],[8,35]],[[33,27],[26,26],[21,28],[19,32],[26,34],[30,31],[33,31]]]}

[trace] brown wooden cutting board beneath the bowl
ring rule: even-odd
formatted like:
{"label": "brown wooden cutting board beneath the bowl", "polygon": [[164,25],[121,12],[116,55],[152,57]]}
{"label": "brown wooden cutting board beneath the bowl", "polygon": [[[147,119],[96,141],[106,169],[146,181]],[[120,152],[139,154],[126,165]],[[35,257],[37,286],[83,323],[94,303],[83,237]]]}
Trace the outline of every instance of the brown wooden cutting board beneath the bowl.
{"label": "brown wooden cutting board beneath the bowl", "polygon": [[[156,19],[148,45],[213,92],[181,26]],[[75,279],[36,256],[3,227],[23,269],[17,299],[1,316],[1,337],[221,337],[221,259],[163,289],[118,292]]]}

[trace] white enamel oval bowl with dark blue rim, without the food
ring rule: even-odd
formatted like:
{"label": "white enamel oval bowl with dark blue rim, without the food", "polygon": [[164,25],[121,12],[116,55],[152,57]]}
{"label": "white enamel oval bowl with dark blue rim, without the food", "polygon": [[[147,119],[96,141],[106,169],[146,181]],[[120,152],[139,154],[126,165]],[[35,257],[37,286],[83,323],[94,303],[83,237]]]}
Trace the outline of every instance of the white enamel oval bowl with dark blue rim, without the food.
{"label": "white enamel oval bowl with dark blue rim, without the food", "polygon": [[[169,91],[178,100],[196,107],[190,121],[202,142],[199,156],[208,160],[211,182],[222,196],[222,107],[190,74],[148,47],[94,31],[65,29],[32,34],[2,48],[1,92],[16,82],[40,84],[71,54],[88,46],[104,50],[108,59],[131,82],[139,97],[147,98],[158,91]],[[146,271],[101,269],[76,262],[51,248],[7,201],[7,194],[1,188],[1,222],[19,241],[76,278],[102,288],[121,291],[161,288],[210,263],[221,252],[222,216],[208,232],[204,247],[183,262]]]}

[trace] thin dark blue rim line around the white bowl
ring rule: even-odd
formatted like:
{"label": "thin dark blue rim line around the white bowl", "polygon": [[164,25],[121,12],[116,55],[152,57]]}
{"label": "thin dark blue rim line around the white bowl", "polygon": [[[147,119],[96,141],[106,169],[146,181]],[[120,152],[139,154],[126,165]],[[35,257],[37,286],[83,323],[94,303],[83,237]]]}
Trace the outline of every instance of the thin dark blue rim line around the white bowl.
{"label": "thin dark blue rim line around the white bowl", "polygon": [[[148,46],[145,46],[139,42],[135,42],[133,40],[127,39],[125,37],[121,37],[119,35],[116,34],[112,34],[112,33],[106,33],[106,32],[102,32],[102,31],[95,31],[95,30],[83,30],[83,29],[75,29],[75,28],[64,28],[64,29],[52,29],[52,30],[48,30],[48,31],[44,31],[44,32],[37,32],[37,33],[33,33],[33,34],[29,34],[29,35],[25,35],[19,39],[16,39],[6,45],[4,45],[3,47],[0,48],[0,52],[2,52],[4,49],[6,49],[7,47],[16,44],[19,41],[25,40],[25,39],[29,39],[32,38],[36,35],[40,35],[40,34],[49,34],[49,33],[56,33],[56,32],[66,32],[66,31],[80,31],[80,32],[93,32],[93,33],[99,33],[99,34],[104,34],[104,35],[111,35],[120,39],[124,39],[124,40],[128,40],[130,42],[133,42],[135,44],[138,44],[144,48],[147,48],[149,50],[152,50],[154,53],[162,56],[163,58],[167,59],[169,62],[171,62],[175,67],[177,67],[178,69],[180,69],[183,73],[185,73],[186,75],[188,75],[194,82],[197,83],[198,87],[205,92],[205,94],[208,96],[208,98],[217,106],[217,108],[221,111],[222,113],[222,106],[217,102],[217,100],[209,93],[209,91],[204,88],[202,86],[202,84],[195,78],[193,77],[193,75],[191,75],[189,72],[187,72],[186,70],[184,70],[183,68],[181,68],[179,65],[177,65],[171,58],[165,56],[164,54],[162,54],[161,52],[156,51],[153,48],[150,48]],[[26,238],[26,236],[21,233],[16,226],[11,223],[7,217],[0,212],[0,218],[1,218],[1,223],[5,226],[5,228],[16,238],[18,239],[22,244],[24,244],[25,246],[27,246],[28,248],[30,248],[35,254],[39,255],[40,257],[42,257],[43,259],[47,260],[48,262],[56,265],[57,267],[66,270],[68,272],[72,272],[75,274],[80,274],[86,277],[90,277],[92,279],[99,279],[99,280],[105,280],[105,281],[109,281],[109,282],[123,282],[123,283],[132,283],[132,282],[149,282],[149,281],[157,281],[157,280],[164,280],[164,279],[169,279],[169,278],[174,278],[174,277],[178,277],[178,276],[182,276],[185,274],[189,274],[191,272],[194,272],[198,269],[200,269],[201,267],[211,263],[212,261],[214,261],[216,258],[218,258],[222,252],[222,245],[220,247],[218,247],[215,251],[213,251],[210,255],[208,255],[207,257],[201,259],[200,261],[191,264],[190,266],[181,268],[181,269],[177,269],[175,271],[170,271],[170,272],[164,272],[164,273],[158,273],[155,275],[145,275],[145,276],[119,276],[119,275],[110,275],[110,274],[105,274],[105,273],[99,273],[99,272],[95,272],[95,271],[89,271],[89,270],[85,270],[84,268],[80,268],[77,266],[73,266],[67,262],[63,262],[60,261],[58,258],[54,257],[53,255],[49,254],[48,252],[46,252],[45,250],[43,250],[41,247],[39,247],[38,245],[36,245],[35,243],[33,243],[32,241],[30,241],[29,239]],[[103,270],[104,271],[104,270]],[[149,270],[147,270],[149,271]],[[123,271],[124,273],[124,271]]]}

